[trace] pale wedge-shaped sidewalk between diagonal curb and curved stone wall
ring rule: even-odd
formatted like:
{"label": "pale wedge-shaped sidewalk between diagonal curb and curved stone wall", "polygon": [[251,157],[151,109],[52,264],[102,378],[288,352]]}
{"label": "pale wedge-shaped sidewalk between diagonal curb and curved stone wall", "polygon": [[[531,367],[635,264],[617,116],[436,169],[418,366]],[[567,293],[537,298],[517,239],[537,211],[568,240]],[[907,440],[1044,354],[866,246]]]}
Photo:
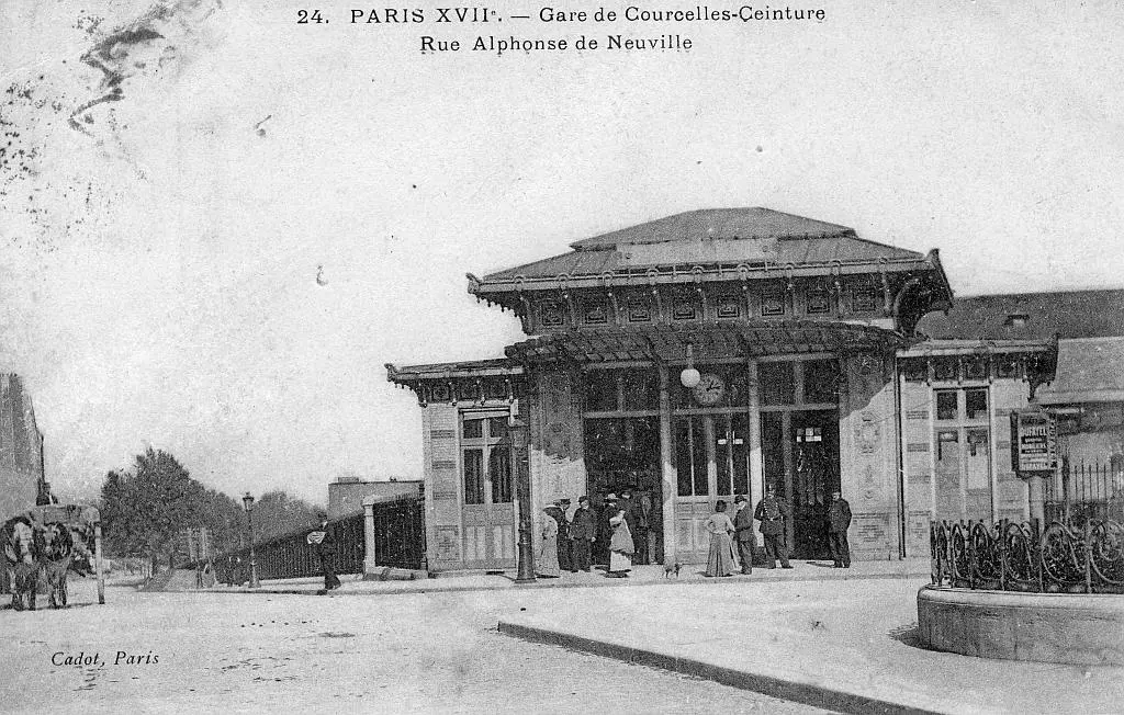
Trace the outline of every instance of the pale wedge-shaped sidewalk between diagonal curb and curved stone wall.
{"label": "pale wedge-shaped sidewalk between diagonal curb and curved stone wall", "polygon": [[631,589],[573,592],[501,616],[499,630],[840,712],[1121,712],[1124,668],[922,648],[916,594],[926,580],[656,586],[643,601]]}

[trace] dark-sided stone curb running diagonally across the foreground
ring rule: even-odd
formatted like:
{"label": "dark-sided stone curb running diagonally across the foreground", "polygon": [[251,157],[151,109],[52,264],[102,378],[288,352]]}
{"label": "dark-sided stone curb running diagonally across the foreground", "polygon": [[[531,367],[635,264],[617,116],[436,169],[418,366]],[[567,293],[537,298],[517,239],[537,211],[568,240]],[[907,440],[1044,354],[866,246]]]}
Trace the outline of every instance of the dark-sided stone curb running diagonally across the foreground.
{"label": "dark-sided stone curb running diagonally across the foreground", "polygon": [[500,621],[498,631],[505,635],[518,638],[535,643],[546,643],[561,645],[570,650],[591,653],[602,658],[623,660],[637,666],[649,666],[670,670],[685,676],[704,678],[722,685],[731,686],[742,690],[752,690],[770,697],[803,703],[814,707],[821,707],[837,713],[886,713],[886,714],[918,714],[935,715],[937,711],[927,711],[912,705],[891,703],[879,698],[867,697],[855,693],[836,690],[826,686],[812,682],[800,682],[797,680],[786,680],[773,676],[765,676],[733,668],[725,668],[714,663],[680,658],[668,653],[633,648],[608,641],[598,641],[571,633],[541,629],[520,623],[509,623]]}

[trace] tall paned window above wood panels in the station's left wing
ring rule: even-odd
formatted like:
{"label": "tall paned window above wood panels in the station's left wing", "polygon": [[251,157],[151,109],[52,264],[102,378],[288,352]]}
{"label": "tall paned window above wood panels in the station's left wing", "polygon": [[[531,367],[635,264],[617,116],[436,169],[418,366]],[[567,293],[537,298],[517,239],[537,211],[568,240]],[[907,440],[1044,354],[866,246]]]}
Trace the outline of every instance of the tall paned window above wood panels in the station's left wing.
{"label": "tall paned window above wood panels in the station's left wing", "polygon": [[461,415],[465,504],[513,501],[511,434],[507,421],[507,414]]}

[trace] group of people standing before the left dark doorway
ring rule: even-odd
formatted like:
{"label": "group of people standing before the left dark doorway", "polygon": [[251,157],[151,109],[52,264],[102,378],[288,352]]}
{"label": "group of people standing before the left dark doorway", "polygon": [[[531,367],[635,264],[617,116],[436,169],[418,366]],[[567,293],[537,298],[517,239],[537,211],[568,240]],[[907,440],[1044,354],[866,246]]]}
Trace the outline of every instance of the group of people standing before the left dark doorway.
{"label": "group of people standing before the left dark doorway", "polygon": [[634,562],[647,563],[651,504],[631,488],[605,495],[600,512],[588,496],[578,499],[569,515],[570,499],[561,498],[543,510],[542,546],[536,571],[556,578],[563,570],[591,571],[593,563],[608,567],[607,575],[625,578]]}

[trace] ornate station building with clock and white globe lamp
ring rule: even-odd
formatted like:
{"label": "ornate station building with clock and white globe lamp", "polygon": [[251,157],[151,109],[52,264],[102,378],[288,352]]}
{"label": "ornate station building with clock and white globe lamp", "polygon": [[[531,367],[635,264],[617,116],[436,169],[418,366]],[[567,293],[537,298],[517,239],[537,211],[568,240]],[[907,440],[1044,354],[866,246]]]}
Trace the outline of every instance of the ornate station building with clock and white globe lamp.
{"label": "ornate station building with clock and white globe lamp", "polygon": [[[1028,515],[1010,414],[1054,379],[1060,340],[1124,334],[1124,292],[954,301],[935,249],[770,209],[570,248],[469,275],[522,322],[505,357],[387,365],[424,410],[430,570],[516,565],[520,479],[535,534],[556,498],[631,487],[656,562],[705,561],[714,503],[769,486],[796,558],[828,557],[836,489],[855,558],[927,556],[932,517]],[[1093,299],[1112,317],[1070,320]]]}

